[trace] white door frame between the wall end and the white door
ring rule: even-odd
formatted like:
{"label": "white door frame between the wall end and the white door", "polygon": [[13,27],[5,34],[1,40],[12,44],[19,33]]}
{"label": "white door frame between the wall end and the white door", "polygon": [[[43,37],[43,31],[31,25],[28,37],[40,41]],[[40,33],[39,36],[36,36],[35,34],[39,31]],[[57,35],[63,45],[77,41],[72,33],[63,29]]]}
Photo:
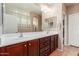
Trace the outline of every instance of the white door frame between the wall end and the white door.
{"label": "white door frame between the wall end and the white door", "polygon": [[67,46],[68,45],[68,15],[67,14],[64,14],[63,15],[63,21],[62,21],[63,24],[63,45],[64,46]]}

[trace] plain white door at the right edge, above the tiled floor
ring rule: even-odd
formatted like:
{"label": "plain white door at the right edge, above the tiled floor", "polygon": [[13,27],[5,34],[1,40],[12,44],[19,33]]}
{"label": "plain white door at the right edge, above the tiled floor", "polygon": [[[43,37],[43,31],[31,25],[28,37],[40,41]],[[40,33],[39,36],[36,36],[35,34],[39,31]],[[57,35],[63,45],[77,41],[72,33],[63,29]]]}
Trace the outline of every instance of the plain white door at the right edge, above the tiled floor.
{"label": "plain white door at the right edge, above the tiled floor", "polygon": [[69,45],[79,47],[79,13],[69,15]]}

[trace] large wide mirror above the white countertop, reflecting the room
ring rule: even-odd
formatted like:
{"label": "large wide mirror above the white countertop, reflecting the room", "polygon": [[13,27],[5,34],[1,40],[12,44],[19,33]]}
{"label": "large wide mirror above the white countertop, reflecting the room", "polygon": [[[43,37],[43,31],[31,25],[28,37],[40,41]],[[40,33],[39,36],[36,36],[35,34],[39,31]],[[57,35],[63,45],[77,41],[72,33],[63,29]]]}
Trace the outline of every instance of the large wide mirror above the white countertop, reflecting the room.
{"label": "large wide mirror above the white countertop, reflecting the room", "polygon": [[42,31],[42,12],[34,3],[3,4],[3,33]]}

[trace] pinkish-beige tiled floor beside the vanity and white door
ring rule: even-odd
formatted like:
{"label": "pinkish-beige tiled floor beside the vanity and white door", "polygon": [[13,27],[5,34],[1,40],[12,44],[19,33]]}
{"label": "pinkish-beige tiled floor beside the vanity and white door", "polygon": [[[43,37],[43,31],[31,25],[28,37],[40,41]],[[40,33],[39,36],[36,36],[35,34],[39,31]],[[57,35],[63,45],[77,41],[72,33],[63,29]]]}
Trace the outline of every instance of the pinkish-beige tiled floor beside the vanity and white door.
{"label": "pinkish-beige tiled floor beside the vanity and white door", "polygon": [[56,50],[53,53],[51,53],[50,56],[77,56],[78,53],[79,53],[78,47],[66,46],[64,47],[63,52]]}

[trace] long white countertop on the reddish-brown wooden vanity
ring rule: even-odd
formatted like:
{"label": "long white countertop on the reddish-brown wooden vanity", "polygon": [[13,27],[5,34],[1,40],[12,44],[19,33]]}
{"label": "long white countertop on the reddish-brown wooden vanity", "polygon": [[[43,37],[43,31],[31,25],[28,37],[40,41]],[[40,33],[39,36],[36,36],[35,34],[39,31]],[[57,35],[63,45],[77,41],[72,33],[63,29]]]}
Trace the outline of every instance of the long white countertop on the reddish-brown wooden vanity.
{"label": "long white countertop on the reddish-brown wooden vanity", "polygon": [[21,43],[33,39],[39,39],[46,36],[52,36],[58,34],[57,31],[53,32],[32,32],[32,33],[22,33],[22,37],[20,37],[20,33],[16,34],[6,34],[0,36],[0,47]]}

